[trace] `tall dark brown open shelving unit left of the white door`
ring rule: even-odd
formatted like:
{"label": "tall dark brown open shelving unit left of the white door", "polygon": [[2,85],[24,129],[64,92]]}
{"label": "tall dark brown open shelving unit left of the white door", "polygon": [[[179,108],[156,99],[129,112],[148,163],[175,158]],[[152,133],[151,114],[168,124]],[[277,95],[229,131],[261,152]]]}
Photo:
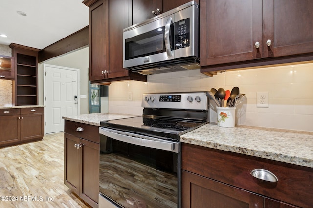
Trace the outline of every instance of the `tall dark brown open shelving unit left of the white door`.
{"label": "tall dark brown open shelving unit left of the white door", "polygon": [[38,51],[12,43],[15,57],[15,105],[38,105]]}

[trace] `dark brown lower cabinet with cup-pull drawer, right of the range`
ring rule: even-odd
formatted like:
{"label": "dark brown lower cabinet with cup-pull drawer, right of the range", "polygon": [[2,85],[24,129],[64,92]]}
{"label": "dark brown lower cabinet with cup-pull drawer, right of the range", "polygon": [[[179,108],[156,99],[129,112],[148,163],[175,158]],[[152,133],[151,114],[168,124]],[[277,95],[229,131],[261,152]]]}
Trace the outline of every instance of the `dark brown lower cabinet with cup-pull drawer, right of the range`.
{"label": "dark brown lower cabinet with cup-pull drawer, right of the range", "polygon": [[[313,168],[182,143],[182,208],[312,208]],[[264,169],[268,182],[250,172]]]}

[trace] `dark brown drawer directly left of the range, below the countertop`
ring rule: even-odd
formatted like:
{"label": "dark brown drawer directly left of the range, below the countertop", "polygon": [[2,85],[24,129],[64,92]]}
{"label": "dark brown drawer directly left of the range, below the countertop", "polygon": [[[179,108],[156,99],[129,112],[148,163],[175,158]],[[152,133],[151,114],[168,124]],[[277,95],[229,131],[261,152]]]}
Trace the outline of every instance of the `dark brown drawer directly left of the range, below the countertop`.
{"label": "dark brown drawer directly left of the range, below the countertop", "polygon": [[[82,131],[77,131],[79,127],[82,128]],[[65,120],[64,132],[92,142],[100,142],[98,126]]]}

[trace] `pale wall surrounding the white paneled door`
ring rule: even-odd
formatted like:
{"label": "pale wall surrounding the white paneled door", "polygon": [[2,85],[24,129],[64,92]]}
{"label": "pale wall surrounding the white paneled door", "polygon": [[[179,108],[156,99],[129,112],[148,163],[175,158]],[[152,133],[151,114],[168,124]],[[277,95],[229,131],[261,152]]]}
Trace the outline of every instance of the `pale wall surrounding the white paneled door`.
{"label": "pale wall surrounding the white paneled door", "polygon": [[[66,55],[45,61],[45,64],[64,66],[80,70],[80,94],[86,95],[87,98],[80,98],[80,114],[89,113],[89,47],[70,52]],[[39,65],[39,104],[44,103],[44,78],[43,63]]]}

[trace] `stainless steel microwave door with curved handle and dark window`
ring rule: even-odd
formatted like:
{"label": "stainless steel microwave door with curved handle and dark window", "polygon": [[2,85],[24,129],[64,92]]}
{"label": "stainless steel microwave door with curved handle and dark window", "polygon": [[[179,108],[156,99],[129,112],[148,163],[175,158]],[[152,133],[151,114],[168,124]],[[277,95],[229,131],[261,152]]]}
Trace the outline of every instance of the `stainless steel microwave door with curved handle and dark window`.
{"label": "stainless steel microwave door with curved handle and dark window", "polygon": [[174,59],[174,15],[123,32],[123,68]]}

